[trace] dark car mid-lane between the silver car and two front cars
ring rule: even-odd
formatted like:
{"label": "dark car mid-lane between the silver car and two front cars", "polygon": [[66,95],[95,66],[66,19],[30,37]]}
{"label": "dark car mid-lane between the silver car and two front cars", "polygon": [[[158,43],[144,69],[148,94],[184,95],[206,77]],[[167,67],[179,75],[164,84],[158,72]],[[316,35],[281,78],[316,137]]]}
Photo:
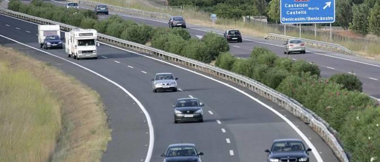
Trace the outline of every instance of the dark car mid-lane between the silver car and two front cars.
{"label": "dark car mid-lane between the silver car and two front cars", "polygon": [[179,98],[174,107],[174,123],[197,121],[203,122],[203,103],[198,98]]}

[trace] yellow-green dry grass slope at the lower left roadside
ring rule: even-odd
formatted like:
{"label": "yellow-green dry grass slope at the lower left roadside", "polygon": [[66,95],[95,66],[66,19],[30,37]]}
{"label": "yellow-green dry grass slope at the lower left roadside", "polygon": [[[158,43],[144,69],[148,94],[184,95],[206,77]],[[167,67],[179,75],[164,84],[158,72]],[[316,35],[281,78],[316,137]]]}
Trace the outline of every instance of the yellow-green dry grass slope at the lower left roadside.
{"label": "yellow-green dry grass slope at the lower left roadside", "polygon": [[0,46],[0,161],[100,161],[110,140],[100,96]]}

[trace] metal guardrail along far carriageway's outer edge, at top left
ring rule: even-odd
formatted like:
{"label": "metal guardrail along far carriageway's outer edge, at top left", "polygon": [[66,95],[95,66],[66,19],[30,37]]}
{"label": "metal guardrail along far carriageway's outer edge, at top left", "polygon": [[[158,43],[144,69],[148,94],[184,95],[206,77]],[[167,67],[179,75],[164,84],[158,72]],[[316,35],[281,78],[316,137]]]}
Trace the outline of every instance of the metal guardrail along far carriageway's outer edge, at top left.
{"label": "metal guardrail along far carriageway's outer edge, at top left", "polygon": [[[95,8],[96,5],[104,4],[104,3],[96,3],[96,2],[86,1],[86,0],[79,0],[79,4],[83,4],[83,5]],[[108,9],[111,11],[117,11],[117,12],[130,14],[130,15],[138,15],[138,16],[152,17],[156,19],[165,19],[165,20],[169,20],[171,18],[171,15],[160,13],[160,12],[150,12],[150,11],[143,11],[139,9],[122,8],[119,6],[112,6],[108,4],[105,4],[105,5],[107,5]]]}

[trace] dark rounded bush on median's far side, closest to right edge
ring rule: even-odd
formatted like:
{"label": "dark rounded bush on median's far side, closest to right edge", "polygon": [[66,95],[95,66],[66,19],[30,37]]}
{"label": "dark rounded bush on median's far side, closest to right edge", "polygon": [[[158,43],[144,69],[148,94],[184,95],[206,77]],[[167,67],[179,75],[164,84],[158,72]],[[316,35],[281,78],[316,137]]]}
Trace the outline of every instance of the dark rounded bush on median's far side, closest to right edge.
{"label": "dark rounded bush on median's far side, closest to right edge", "polygon": [[342,84],[343,88],[347,90],[357,90],[359,92],[363,90],[363,83],[355,75],[345,73],[334,74],[330,77],[330,80]]}

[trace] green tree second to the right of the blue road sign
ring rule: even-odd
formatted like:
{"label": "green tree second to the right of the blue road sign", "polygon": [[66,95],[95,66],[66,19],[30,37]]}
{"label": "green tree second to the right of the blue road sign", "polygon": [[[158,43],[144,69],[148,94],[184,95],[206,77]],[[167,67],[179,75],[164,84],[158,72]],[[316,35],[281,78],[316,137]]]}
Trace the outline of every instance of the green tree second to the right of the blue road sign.
{"label": "green tree second to the right of the blue road sign", "polygon": [[369,10],[367,4],[353,5],[352,8],[352,22],[350,28],[356,33],[366,35],[368,33],[368,16]]}

